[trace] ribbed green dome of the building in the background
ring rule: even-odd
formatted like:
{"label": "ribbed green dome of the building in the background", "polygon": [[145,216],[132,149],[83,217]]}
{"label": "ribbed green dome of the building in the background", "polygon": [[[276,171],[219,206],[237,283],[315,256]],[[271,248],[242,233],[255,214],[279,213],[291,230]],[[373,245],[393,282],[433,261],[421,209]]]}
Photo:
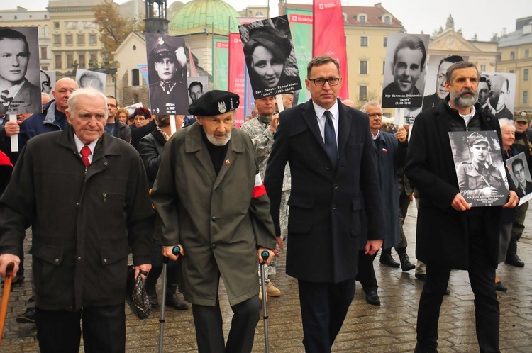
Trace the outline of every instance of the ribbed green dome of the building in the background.
{"label": "ribbed green dome of the building in the background", "polygon": [[179,9],[168,23],[170,35],[238,32],[238,13],[222,0],[192,0]]}

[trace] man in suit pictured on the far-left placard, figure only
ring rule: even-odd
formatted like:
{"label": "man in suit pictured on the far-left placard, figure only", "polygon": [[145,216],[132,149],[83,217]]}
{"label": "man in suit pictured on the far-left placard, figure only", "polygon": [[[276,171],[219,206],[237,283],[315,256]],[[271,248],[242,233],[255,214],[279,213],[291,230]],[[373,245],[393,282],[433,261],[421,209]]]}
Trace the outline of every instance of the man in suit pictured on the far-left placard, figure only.
{"label": "man in suit pictured on the far-left placard, figure only", "polygon": [[0,104],[8,114],[40,113],[42,109],[39,87],[26,79],[29,62],[26,35],[0,28]]}

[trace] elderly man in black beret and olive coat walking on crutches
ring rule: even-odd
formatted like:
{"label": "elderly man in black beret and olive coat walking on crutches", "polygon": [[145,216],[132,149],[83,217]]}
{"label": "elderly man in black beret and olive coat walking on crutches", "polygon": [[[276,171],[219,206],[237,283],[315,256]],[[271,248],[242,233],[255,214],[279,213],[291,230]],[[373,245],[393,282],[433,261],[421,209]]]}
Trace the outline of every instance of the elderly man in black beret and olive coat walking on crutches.
{"label": "elderly man in black beret and olive coat walking on crutches", "polygon": [[[238,95],[226,91],[209,91],[192,103],[189,113],[198,120],[168,140],[152,191],[162,252],[181,262],[179,288],[192,303],[199,353],[251,352],[260,310],[259,255],[268,250],[269,263],[276,244],[253,143],[233,127],[238,104]],[[227,344],[220,277],[235,313]]]}

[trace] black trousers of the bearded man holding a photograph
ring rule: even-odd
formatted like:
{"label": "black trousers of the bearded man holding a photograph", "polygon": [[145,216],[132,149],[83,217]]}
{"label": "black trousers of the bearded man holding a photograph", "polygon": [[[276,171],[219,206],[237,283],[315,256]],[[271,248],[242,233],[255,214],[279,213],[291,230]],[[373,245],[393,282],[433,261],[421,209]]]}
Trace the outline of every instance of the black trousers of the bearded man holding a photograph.
{"label": "black trousers of the bearded man holding a photograph", "polygon": [[[475,294],[475,324],[480,352],[499,352],[499,302],[495,292],[495,268],[487,260],[482,218],[468,218],[469,278]],[[456,246],[464,246],[457,244]],[[427,279],[419,300],[417,347],[438,347],[438,319],[450,276],[449,267],[427,264]]]}

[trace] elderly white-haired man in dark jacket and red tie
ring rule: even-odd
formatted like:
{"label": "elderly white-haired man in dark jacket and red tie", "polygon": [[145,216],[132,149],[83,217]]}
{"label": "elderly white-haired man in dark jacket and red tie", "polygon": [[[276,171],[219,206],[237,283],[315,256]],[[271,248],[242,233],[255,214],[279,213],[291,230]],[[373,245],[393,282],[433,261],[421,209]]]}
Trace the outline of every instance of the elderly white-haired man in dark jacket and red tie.
{"label": "elderly white-haired man in dark jacket and red tie", "polygon": [[[150,271],[153,211],[140,156],[104,134],[106,97],[70,95],[65,130],[32,138],[0,198],[0,274],[33,229],[41,352],[125,352],[128,254]],[[52,157],[50,157],[52,156]]]}

